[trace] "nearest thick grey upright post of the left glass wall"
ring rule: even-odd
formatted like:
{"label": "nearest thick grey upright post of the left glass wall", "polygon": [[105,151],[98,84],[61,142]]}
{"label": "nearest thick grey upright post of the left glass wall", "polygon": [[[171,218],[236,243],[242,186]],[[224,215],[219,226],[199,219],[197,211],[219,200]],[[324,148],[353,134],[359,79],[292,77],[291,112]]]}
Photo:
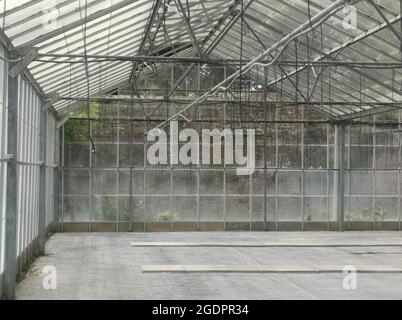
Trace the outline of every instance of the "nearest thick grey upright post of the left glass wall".
{"label": "nearest thick grey upright post of the left glass wall", "polygon": [[[11,56],[10,58],[15,58]],[[4,264],[4,295],[15,298],[17,277],[17,144],[18,144],[18,97],[20,77],[8,77],[8,135],[7,152],[12,159],[7,164],[6,234]]]}

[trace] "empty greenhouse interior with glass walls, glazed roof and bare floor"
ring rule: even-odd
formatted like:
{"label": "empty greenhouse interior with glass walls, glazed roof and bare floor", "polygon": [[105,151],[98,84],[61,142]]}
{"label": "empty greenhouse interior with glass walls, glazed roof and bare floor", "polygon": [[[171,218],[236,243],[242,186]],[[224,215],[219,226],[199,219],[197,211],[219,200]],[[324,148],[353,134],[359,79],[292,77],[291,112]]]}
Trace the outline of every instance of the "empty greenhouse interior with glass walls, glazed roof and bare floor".
{"label": "empty greenhouse interior with glass walls, glazed roof and bare floor", "polygon": [[[402,298],[401,13],[398,0],[0,0],[0,297],[163,299],[158,277],[210,274],[220,293],[170,294],[242,298],[232,277],[269,298],[278,266],[310,255],[311,273],[363,270],[331,297],[375,297],[375,267],[381,294]],[[105,280],[113,261],[139,292]],[[170,263],[184,280],[158,269]],[[32,271],[49,265],[57,290]]]}

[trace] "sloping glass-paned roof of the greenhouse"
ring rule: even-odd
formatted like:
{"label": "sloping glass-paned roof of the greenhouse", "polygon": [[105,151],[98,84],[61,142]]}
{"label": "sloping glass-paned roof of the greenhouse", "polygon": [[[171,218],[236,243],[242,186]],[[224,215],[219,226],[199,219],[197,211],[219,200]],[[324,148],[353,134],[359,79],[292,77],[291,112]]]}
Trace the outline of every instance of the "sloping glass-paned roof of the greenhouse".
{"label": "sloping glass-paned roof of the greenhouse", "polygon": [[[210,54],[227,59],[251,60],[332,2],[245,0],[246,28],[243,38],[239,19]],[[282,59],[312,59],[317,63],[401,63],[400,41],[387,24],[391,23],[394,31],[401,34],[399,1],[377,0],[376,3],[387,22],[370,1],[359,1],[355,5],[356,29],[344,28],[342,23],[346,13],[339,10],[321,27],[316,28],[315,32],[309,32],[299,39],[297,56],[296,51],[289,48]],[[156,4],[158,8],[154,12]],[[184,12],[190,13],[191,32],[186,27],[180,5]],[[96,95],[129,81],[133,62],[88,62],[87,69],[82,63],[83,55],[136,56],[152,53],[195,56],[197,46],[202,51],[219,37],[220,32],[230,22],[230,19],[225,17],[233,16],[235,9],[241,9],[241,1],[0,0],[0,27],[17,48],[34,46],[39,49],[40,54],[81,56],[76,61],[71,57],[60,56],[39,58],[29,65],[29,70],[46,93],[85,96],[88,82],[90,94]],[[155,16],[153,12],[156,13]],[[149,37],[144,39],[150,23]],[[90,60],[88,58],[88,61]],[[285,94],[293,97],[295,88],[292,81],[286,79],[286,75],[297,73],[301,95],[307,96],[311,88],[315,88],[310,92],[310,100],[359,102],[364,95],[364,101],[371,103],[367,106],[319,106],[321,111],[334,116],[345,116],[374,108],[373,102],[393,102],[402,98],[400,91],[395,89],[395,83],[402,82],[400,66],[363,71],[343,66],[324,70],[319,65],[305,66],[300,70],[297,68],[300,67],[285,66],[280,70],[277,67],[274,70],[272,67],[272,71],[268,72],[268,83],[280,85]],[[319,72],[322,72],[322,77],[317,80],[316,75]],[[250,73],[258,77],[258,68],[251,69]],[[329,86],[330,93],[326,89]],[[54,107],[59,111],[67,105],[68,102],[59,101]]]}

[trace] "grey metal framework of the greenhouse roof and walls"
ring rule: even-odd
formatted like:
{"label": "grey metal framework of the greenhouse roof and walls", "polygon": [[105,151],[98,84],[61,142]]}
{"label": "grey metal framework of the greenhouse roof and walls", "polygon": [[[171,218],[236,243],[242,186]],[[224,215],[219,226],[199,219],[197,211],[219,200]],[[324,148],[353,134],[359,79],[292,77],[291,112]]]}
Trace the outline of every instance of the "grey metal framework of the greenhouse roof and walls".
{"label": "grey metal framework of the greenhouse roof and walls", "polygon": [[[239,9],[242,4],[240,0],[230,2],[217,0],[212,4],[198,0],[191,0],[184,4],[180,0],[174,0],[174,4],[164,2],[163,8],[160,0],[119,0],[112,5],[105,0],[89,0],[88,8],[86,8],[89,10],[89,14],[86,17],[80,15],[83,8],[79,8],[81,12],[78,12],[75,8],[69,7],[73,2],[65,0],[58,3],[58,9],[68,8],[68,11],[60,16],[64,26],[51,31],[44,30],[42,21],[39,21],[42,15],[35,10],[38,5],[36,0],[23,5],[12,3],[11,9],[0,13],[0,17],[5,18],[6,22],[5,30],[3,30],[5,34],[3,31],[0,32],[1,45],[9,50],[9,58],[20,58],[18,62],[9,65],[11,73],[7,79],[8,148],[1,150],[2,154],[0,154],[2,173],[4,174],[4,168],[7,170],[6,250],[4,255],[4,288],[7,298],[14,297],[16,276],[28,265],[29,258],[37,250],[40,254],[44,253],[45,236],[49,225],[53,222],[53,217],[56,221],[60,218],[64,222],[64,184],[67,168],[64,167],[64,157],[58,159],[59,151],[63,155],[65,154],[65,143],[64,140],[60,142],[59,129],[63,127],[62,130],[64,130],[68,117],[63,118],[63,115],[70,111],[74,102],[101,101],[107,104],[119,101],[122,106],[127,103],[131,106],[138,103],[142,107],[147,103],[147,107],[150,106],[150,109],[154,103],[158,103],[152,114],[144,112],[140,120],[134,116],[131,118],[131,121],[138,120],[136,123],[145,122],[147,130],[152,129],[155,121],[159,121],[158,126],[165,125],[169,120],[176,119],[184,113],[191,114],[194,111],[193,108],[196,109],[194,120],[190,121],[189,125],[201,126],[209,123],[200,118],[200,114],[205,111],[204,107],[208,109],[212,105],[222,106],[222,104],[224,104],[225,110],[223,121],[225,125],[236,124],[236,119],[226,118],[226,112],[229,114],[230,108],[237,107],[241,110],[241,115],[246,118],[242,119],[242,125],[263,126],[264,165],[259,168],[264,176],[263,195],[254,193],[255,185],[252,177],[248,179],[250,184],[248,194],[230,195],[230,184],[227,183],[227,178],[230,176],[231,168],[223,168],[223,194],[219,195],[218,201],[220,198],[223,200],[224,230],[230,228],[231,221],[228,216],[231,212],[230,202],[228,202],[230,196],[247,198],[245,200],[248,203],[246,220],[250,228],[253,223],[254,210],[258,210],[256,203],[263,198],[264,230],[270,228],[269,223],[271,222],[275,224],[275,230],[280,229],[284,222],[281,220],[284,199],[291,201],[294,198],[293,200],[301,206],[300,217],[298,217],[301,229],[306,230],[308,226],[305,221],[307,213],[305,205],[308,198],[307,180],[309,171],[314,170],[309,170],[305,161],[307,146],[305,134],[308,125],[313,123],[325,124],[328,134],[327,143],[322,146],[326,148],[328,166],[322,170],[326,173],[327,178],[325,197],[327,198],[328,219],[325,222],[327,228],[330,229],[333,219],[330,217],[329,176],[334,173],[334,212],[339,227],[343,230],[344,222],[349,219],[345,216],[345,207],[350,206],[348,201],[350,202],[355,196],[351,193],[352,174],[356,171],[353,169],[352,163],[354,146],[351,142],[353,137],[351,128],[370,126],[374,130],[371,154],[373,166],[366,171],[372,174],[373,189],[371,194],[364,196],[372,199],[370,200],[373,215],[371,222],[372,228],[376,228],[375,210],[381,196],[376,193],[376,185],[379,183],[381,173],[387,170],[381,169],[377,163],[377,158],[381,154],[380,148],[383,146],[376,133],[376,128],[381,125],[381,121],[377,123],[379,117],[374,116],[401,109],[402,95],[398,83],[400,84],[402,81],[400,61],[402,41],[401,35],[398,33],[400,26],[397,25],[398,22],[402,23],[401,5],[379,6],[373,0],[369,0],[372,6],[356,3],[361,21],[357,26],[357,31],[350,34],[339,26],[342,17],[337,10],[345,3],[342,0],[332,4],[325,0],[308,3],[311,4],[313,13],[311,17],[306,12],[308,5],[306,1],[251,0],[247,2],[242,11]],[[328,7],[324,7],[327,3]],[[177,7],[177,11],[173,10],[173,5]],[[375,11],[368,11],[369,7]],[[136,24],[132,23],[133,17],[135,17]],[[330,21],[325,20],[327,18]],[[185,30],[182,27],[183,24]],[[84,26],[88,31],[86,49],[88,48],[89,52],[83,56],[80,54],[83,49],[80,34]],[[314,31],[310,30],[311,26],[314,26]],[[320,30],[318,30],[319,28]],[[247,32],[243,32],[245,29]],[[106,33],[107,36],[104,36]],[[313,33],[319,34],[320,37],[314,37]],[[102,34],[103,36],[99,37]],[[325,39],[323,39],[323,34],[327,35]],[[372,40],[375,41],[375,44]],[[297,43],[295,44],[294,41]],[[66,49],[66,43],[68,49]],[[20,49],[19,56],[16,55],[16,47]],[[376,61],[378,55],[384,58],[384,62]],[[83,68],[84,63],[89,64],[87,70]],[[147,63],[151,64],[149,68]],[[185,70],[180,78],[173,79],[172,68],[172,83],[166,91],[166,95],[157,96],[152,90],[147,90],[149,88],[144,90],[139,88],[138,83],[143,79],[152,77],[171,67],[172,64],[185,67]],[[29,65],[28,68],[26,68],[27,65]],[[223,66],[225,77],[214,87],[201,89],[200,70],[205,66]],[[234,70],[229,75],[228,70],[237,66],[240,69]],[[192,90],[191,94],[185,92],[189,97],[183,99],[180,97],[183,93],[180,85],[191,77],[191,72],[195,69],[198,71],[198,88]],[[89,79],[88,70],[90,72]],[[66,81],[68,75],[71,75],[71,79]],[[343,76],[342,79],[339,79],[340,75]],[[220,96],[214,95],[216,91],[221,90],[222,86],[226,86],[232,81],[234,86],[237,86],[236,88],[228,88]],[[249,85],[249,90],[245,90],[241,86],[242,81],[254,81],[261,88],[258,90],[254,88],[253,91]],[[92,84],[89,98],[84,96],[87,93],[86,84],[88,82]],[[106,94],[112,89],[119,89],[119,93],[121,93],[127,88],[131,90],[130,97],[112,97]],[[50,94],[51,92],[57,92],[57,94]],[[259,96],[260,94],[264,95],[263,99]],[[207,103],[204,104],[204,102]],[[174,104],[187,104],[187,106],[177,112]],[[250,110],[255,107],[253,109],[255,114],[247,113],[248,110],[245,106]],[[288,122],[279,119],[281,110],[286,108],[301,108],[300,114],[295,114],[297,119],[290,119]],[[41,111],[41,109],[43,110]],[[310,109],[318,111],[322,117],[317,121],[309,119]],[[161,110],[166,111],[164,114],[166,117],[161,116]],[[59,113],[57,119],[55,119],[56,111]],[[257,115],[261,111],[264,112],[264,117],[258,119]],[[372,119],[373,117],[374,119]],[[367,118],[367,123],[364,123],[362,118]],[[187,119],[191,119],[191,117],[187,117]],[[2,120],[3,125],[6,122],[4,115]],[[89,119],[91,133],[93,132],[92,123],[100,120]],[[214,119],[209,120],[214,121]],[[118,115],[117,119],[113,119],[113,121],[121,125],[124,119]],[[267,144],[269,124],[275,128],[273,145]],[[294,147],[291,144],[280,143],[282,134],[280,129],[286,124],[297,124],[302,128],[300,146],[297,146],[301,148],[302,160],[300,168],[295,170],[280,168],[278,160],[283,147]],[[400,127],[400,115],[397,124]],[[388,123],[387,125],[392,130],[394,124]],[[332,145],[329,132],[333,126],[335,126],[335,154],[334,159],[330,159]],[[5,126],[2,128],[1,133],[4,135]],[[4,140],[3,136],[0,138]],[[119,142],[120,136],[117,141],[118,152],[120,151]],[[62,143],[61,146],[60,143]],[[145,143],[143,147],[146,150],[147,144]],[[269,167],[266,162],[268,147],[275,149],[276,158],[273,167]],[[361,147],[367,146],[361,145]],[[394,146],[391,147],[394,148]],[[400,229],[401,150],[398,151],[397,197]],[[130,154],[130,160],[132,156]],[[89,211],[92,214],[91,188],[95,168],[93,168],[94,155],[91,150],[89,150],[89,158]],[[119,155],[117,155],[118,160]],[[334,160],[334,170],[329,166],[331,160]],[[63,163],[61,186],[59,186],[59,162]],[[119,168],[116,169],[119,177]],[[138,168],[133,168],[130,164],[129,170],[130,180],[132,180],[133,173]],[[170,189],[167,196],[170,197],[169,207],[172,210],[175,205],[174,197],[188,195],[177,195],[174,192],[175,169],[170,167],[167,170],[170,175]],[[198,167],[195,171],[198,228],[201,228],[202,202],[205,201],[203,195],[200,195],[203,170],[204,168]],[[152,205],[152,202],[148,201],[148,197],[152,195],[146,192],[146,183],[150,180],[151,171],[146,163],[143,171],[144,189],[141,195],[144,201],[143,215],[145,218],[147,206]],[[388,171],[395,172],[396,168]],[[281,193],[283,184],[281,179],[283,179],[283,175],[287,174],[286,172],[290,175],[294,172],[301,175],[299,194]],[[270,191],[272,194],[269,194],[267,190],[268,174],[275,174],[275,185]],[[119,178],[117,178],[117,183],[119,183]],[[62,194],[61,217],[58,217],[59,187]],[[117,188],[117,192],[119,194],[119,188]],[[130,214],[133,211],[132,197],[135,195],[130,184]],[[274,197],[275,202],[272,207],[266,201],[268,197]],[[393,200],[396,199],[395,194],[391,194],[389,197]],[[4,195],[1,199],[4,200],[3,198]],[[117,206],[120,210],[119,203]],[[96,226],[92,224],[92,216],[89,220],[88,229],[95,230]],[[117,217],[118,230],[120,222]],[[351,221],[347,222],[350,227]],[[134,226],[131,225],[130,230],[133,228]],[[172,222],[169,228],[173,230]],[[147,230],[145,221],[143,230]]]}

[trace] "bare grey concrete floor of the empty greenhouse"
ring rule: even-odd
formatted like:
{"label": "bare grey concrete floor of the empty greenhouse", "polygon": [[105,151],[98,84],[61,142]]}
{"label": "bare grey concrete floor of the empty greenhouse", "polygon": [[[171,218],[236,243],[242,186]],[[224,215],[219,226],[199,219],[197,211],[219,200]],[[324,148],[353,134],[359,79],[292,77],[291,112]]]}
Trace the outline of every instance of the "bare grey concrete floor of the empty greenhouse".
{"label": "bare grey concrete floor of the empty greenhouse", "polygon": [[[130,246],[165,241],[240,246]],[[265,246],[241,246],[256,242]],[[309,246],[289,246],[300,243]],[[351,243],[356,247],[341,246]],[[56,290],[42,287],[47,265],[57,269]],[[339,272],[143,273],[150,265],[332,266]],[[401,268],[402,232],[60,233],[19,283],[17,299],[402,299],[402,273],[358,273],[357,289],[345,290],[346,265]]]}

